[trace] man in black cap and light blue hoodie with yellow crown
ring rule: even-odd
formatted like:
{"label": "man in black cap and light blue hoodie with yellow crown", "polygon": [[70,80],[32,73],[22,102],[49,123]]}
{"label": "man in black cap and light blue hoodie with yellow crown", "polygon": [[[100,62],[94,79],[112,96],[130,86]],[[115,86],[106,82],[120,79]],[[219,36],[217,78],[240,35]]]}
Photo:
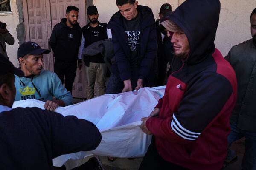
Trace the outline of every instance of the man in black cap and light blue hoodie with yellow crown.
{"label": "man in black cap and light blue hoodie with yellow crown", "polygon": [[[55,111],[58,106],[73,104],[73,97],[63,87],[58,76],[43,70],[43,54],[50,51],[42,49],[35,42],[24,42],[18,48],[18,60],[25,77],[15,75],[16,97],[15,101],[37,99],[45,102],[44,108]],[[56,100],[52,101],[55,97]]]}

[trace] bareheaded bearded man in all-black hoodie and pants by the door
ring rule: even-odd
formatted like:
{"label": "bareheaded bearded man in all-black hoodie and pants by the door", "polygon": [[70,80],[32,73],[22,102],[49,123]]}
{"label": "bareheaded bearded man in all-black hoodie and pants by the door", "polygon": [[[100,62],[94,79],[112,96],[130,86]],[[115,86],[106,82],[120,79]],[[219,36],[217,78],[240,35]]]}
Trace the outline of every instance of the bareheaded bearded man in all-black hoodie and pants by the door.
{"label": "bareheaded bearded man in all-black hoodie and pants by the door", "polygon": [[54,72],[61,79],[62,84],[65,77],[65,88],[71,94],[82,38],[82,30],[77,23],[78,11],[75,6],[68,6],[66,18],[62,18],[61,22],[54,26],[50,37],[50,46],[55,59]]}

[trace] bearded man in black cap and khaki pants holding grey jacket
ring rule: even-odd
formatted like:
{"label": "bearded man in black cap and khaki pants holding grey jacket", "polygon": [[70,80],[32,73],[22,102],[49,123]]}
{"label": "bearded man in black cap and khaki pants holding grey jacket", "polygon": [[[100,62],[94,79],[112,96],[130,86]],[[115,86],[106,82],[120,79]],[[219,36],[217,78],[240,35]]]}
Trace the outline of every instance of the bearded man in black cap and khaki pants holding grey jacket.
{"label": "bearded man in black cap and khaki pants holding grey jacket", "polygon": [[[98,21],[98,10],[96,6],[88,6],[87,15],[90,23],[82,28],[83,36],[81,46],[79,48],[79,69],[82,67],[82,52],[83,49],[93,44],[94,42],[105,40],[108,38],[107,24]],[[99,84],[99,95],[105,93],[105,79],[107,74],[107,65],[104,62],[102,54],[95,56],[84,57],[85,75],[87,79],[87,99],[94,97],[94,84],[97,77]]]}

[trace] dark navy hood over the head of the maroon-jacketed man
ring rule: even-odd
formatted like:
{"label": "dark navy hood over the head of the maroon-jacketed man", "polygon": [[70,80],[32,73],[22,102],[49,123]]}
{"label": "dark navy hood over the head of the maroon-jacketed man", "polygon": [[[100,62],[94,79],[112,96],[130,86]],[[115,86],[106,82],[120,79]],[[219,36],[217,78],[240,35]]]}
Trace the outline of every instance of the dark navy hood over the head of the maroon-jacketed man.
{"label": "dark navy hood over the head of the maroon-jacketed man", "polygon": [[190,53],[188,64],[196,64],[215,51],[214,40],[220,14],[219,0],[186,0],[166,19],[186,34]]}

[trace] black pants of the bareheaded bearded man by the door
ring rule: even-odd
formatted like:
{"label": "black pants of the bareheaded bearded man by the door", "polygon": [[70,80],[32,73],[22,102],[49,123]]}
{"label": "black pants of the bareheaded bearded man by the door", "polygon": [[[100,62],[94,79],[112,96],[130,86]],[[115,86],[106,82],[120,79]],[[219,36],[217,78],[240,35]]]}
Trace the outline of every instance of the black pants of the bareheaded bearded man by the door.
{"label": "black pants of the bareheaded bearded man by the door", "polygon": [[65,88],[72,94],[73,82],[76,77],[77,62],[63,62],[55,60],[54,72],[61,79],[62,84],[64,83],[65,77]]}

